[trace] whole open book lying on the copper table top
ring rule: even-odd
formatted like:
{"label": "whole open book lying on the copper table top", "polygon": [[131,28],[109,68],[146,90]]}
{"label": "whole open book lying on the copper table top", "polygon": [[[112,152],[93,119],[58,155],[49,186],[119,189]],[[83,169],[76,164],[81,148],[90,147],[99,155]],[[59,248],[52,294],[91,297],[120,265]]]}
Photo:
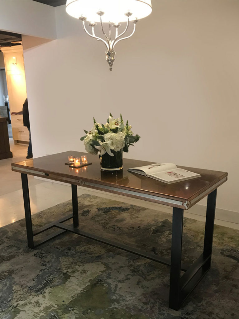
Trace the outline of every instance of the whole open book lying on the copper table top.
{"label": "whole open book lying on the copper table top", "polygon": [[133,167],[129,172],[138,173],[168,184],[200,177],[200,174],[177,168],[173,163],[155,163],[151,165]]}

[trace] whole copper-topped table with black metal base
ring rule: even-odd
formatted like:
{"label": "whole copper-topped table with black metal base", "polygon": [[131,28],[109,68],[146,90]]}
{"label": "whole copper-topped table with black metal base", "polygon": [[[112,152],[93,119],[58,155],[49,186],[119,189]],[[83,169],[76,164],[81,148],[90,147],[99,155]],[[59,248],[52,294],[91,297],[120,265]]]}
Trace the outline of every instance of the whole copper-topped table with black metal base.
{"label": "whole copper-topped table with black metal base", "polygon": [[[100,160],[98,156],[90,154],[87,154],[87,156],[88,161],[92,162],[92,165],[78,169],[65,165],[65,162],[68,161],[68,155],[80,157],[85,154],[86,153],[69,151],[11,164],[14,172],[21,173],[28,246],[30,248],[35,248],[44,242],[69,231],[168,265],[171,268],[169,308],[178,310],[190,292],[210,269],[217,188],[227,181],[227,173],[179,166],[195,173],[199,173],[201,174],[201,177],[173,184],[166,184],[153,180],[152,178],[127,171],[130,167],[140,167],[152,164],[151,162],[146,161],[123,159],[123,171],[114,173],[102,172],[100,170]],[[39,229],[33,230],[27,180],[28,174],[71,184],[72,214],[65,218],[52,221],[48,225]],[[116,241],[99,237],[96,234],[90,234],[82,231],[78,227],[77,185],[172,206],[173,220],[171,260],[159,257],[151,252],[145,252]],[[191,206],[196,204],[205,196],[207,196],[207,207],[204,249],[201,256],[199,256],[188,269],[185,269],[181,264],[183,211],[190,209]],[[72,226],[64,224],[64,221],[69,219],[73,219]],[[53,234],[45,236],[45,238],[40,241],[34,240],[34,237],[37,234],[40,234],[52,227],[56,227],[58,230]],[[184,271],[182,276],[181,271]]]}

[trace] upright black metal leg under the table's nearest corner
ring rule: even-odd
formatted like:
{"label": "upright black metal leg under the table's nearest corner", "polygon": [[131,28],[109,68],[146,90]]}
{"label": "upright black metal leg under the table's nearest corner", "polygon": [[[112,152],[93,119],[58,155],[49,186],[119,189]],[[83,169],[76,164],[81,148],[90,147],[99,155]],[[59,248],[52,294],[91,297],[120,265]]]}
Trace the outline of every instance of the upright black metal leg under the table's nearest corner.
{"label": "upright black metal leg under the table's nearest corner", "polygon": [[173,207],[169,308],[178,309],[180,300],[183,209]]}

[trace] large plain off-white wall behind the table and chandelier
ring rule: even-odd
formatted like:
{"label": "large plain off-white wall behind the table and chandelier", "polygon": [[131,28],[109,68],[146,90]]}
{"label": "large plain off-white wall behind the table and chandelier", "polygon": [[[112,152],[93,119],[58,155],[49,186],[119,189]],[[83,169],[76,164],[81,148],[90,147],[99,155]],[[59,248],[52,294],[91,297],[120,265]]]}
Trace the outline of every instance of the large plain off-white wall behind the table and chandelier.
{"label": "large plain off-white wall behind the table and chandelier", "polygon": [[23,37],[34,157],[84,151],[93,116],[122,113],[141,136],[125,157],[228,171],[217,207],[238,212],[238,12],[239,1],[153,1],[109,72],[104,45],[57,7],[57,40]]}

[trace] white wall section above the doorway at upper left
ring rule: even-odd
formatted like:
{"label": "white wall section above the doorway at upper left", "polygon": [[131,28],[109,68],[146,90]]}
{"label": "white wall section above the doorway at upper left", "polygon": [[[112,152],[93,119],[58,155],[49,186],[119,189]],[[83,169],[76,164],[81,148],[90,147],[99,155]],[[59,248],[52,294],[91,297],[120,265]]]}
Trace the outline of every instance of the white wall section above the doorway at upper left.
{"label": "white wall section above the doorway at upper left", "polygon": [[56,39],[55,8],[36,1],[1,0],[0,30]]}

